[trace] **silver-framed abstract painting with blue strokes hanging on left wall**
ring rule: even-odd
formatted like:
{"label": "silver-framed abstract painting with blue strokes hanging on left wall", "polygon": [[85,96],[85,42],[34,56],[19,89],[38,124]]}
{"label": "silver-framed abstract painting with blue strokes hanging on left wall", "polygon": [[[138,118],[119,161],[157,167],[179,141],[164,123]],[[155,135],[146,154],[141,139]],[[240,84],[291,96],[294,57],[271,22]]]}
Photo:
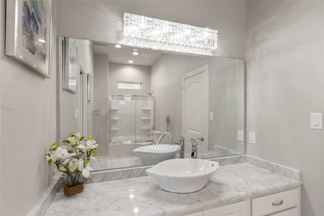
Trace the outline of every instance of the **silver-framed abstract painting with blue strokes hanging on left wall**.
{"label": "silver-framed abstract painting with blue strokes hanging on left wall", "polygon": [[6,55],[51,78],[51,0],[7,1]]}

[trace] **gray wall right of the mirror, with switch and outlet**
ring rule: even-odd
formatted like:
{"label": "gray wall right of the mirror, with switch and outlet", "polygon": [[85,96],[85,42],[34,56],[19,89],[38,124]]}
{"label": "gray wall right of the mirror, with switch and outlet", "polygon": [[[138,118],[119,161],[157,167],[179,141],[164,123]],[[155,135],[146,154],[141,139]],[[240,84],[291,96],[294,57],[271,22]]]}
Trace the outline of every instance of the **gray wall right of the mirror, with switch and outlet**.
{"label": "gray wall right of the mirror, with switch and outlet", "polygon": [[[247,153],[302,171],[301,215],[323,215],[323,1],[247,2]],[[248,140],[248,139],[247,139]]]}

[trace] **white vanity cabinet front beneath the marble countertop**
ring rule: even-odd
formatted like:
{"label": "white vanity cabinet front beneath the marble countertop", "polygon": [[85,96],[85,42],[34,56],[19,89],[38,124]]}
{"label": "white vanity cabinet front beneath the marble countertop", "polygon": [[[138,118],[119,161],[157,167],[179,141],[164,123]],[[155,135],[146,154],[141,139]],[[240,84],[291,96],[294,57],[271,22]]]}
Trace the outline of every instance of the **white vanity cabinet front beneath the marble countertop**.
{"label": "white vanity cabinet front beneath the marble countertop", "polygon": [[300,216],[300,187],[253,197],[183,216]]}

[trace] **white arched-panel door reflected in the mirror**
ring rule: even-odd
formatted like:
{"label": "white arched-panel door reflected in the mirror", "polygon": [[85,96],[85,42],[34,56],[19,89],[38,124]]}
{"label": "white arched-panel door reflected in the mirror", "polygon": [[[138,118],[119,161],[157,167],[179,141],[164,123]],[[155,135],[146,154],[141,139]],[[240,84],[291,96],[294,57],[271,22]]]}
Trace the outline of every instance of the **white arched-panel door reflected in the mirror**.
{"label": "white arched-panel door reflected in the mirror", "polygon": [[[198,152],[208,151],[208,65],[183,76],[182,127],[185,152],[191,152],[190,139],[198,142]],[[202,140],[198,140],[204,138]],[[198,154],[199,155],[199,154]]]}

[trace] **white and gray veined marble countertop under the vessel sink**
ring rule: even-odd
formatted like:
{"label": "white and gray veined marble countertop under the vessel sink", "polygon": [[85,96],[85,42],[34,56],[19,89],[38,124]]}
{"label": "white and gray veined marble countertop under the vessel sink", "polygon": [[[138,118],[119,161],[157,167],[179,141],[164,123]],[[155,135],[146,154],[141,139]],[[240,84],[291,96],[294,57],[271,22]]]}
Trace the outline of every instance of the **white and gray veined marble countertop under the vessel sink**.
{"label": "white and gray veined marble countertop under the vessel sink", "polygon": [[168,215],[301,185],[251,163],[223,165],[194,193],[164,190],[149,176],[85,184],[66,197],[61,188],[45,215]]}

